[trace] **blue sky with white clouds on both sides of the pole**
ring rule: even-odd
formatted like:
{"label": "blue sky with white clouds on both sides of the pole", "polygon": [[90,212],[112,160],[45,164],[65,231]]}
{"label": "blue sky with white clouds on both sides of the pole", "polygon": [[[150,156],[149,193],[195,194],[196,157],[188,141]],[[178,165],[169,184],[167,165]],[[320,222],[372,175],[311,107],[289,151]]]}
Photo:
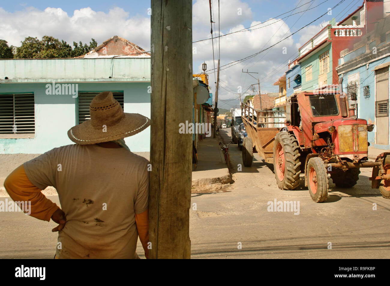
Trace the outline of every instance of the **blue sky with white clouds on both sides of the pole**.
{"label": "blue sky with white clouds on both sides of the pole", "polygon": [[[298,48],[320,31],[320,24],[332,18],[336,22],[346,18],[363,0],[220,0],[220,9],[218,0],[212,0],[213,36],[218,36],[218,29],[222,36],[213,41],[209,0],[192,3],[193,41],[207,39],[193,43],[193,73],[202,72],[202,63],[206,62],[213,94],[213,69],[218,58],[220,66],[224,66],[268,48],[248,60],[221,68],[218,107],[230,108],[239,104],[238,93],[258,93],[257,77],[262,94],[277,92],[273,83],[287,71],[288,60],[297,57]],[[150,51],[150,7],[150,1],[139,0],[1,1],[0,39],[20,46],[25,37],[41,39],[48,35],[69,44],[89,43],[94,38],[99,45],[117,35]],[[239,30],[243,31],[236,32]],[[231,32],[236,33],[226,35]],[[256,79],[242,70],[253,72]]]}

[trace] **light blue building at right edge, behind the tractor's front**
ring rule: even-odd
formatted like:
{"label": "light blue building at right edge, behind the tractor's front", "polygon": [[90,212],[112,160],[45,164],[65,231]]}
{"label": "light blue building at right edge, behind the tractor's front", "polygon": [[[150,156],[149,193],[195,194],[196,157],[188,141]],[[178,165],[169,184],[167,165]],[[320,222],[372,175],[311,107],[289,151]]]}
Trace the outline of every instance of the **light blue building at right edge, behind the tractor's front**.
{"label": "light blue building at right edge, behind the tractor's front", "polygon": [[340,53],[336,69],[349,106],[355,108],[358,118],[375,124],[374,131],[368,133],[370,146],[390,149],[390,16],[384,14],[383,17],[354,45],[353,50]]}

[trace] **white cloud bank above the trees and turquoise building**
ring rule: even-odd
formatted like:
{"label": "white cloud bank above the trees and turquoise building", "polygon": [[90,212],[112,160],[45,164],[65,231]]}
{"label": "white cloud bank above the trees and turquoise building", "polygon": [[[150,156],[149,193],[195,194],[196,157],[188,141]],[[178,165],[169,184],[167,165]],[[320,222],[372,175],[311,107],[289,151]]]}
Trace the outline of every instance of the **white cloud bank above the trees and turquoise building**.
{"label": "white cloud bank above the trees and turquoise building", "polygon": [[42,11],[26,7],[15,12],[0,8],[0,19],[0,39],[9,45],[20,46],[25,37],[41,39],[44,35],[63,39],[70,45],[73,41],[89,43],[91,38],[101,44],[117,35],[145,50],[150,49],[150,16],[129,18],[129,13],[119,7],[108,13],[85,7],[74,10],[71,16],[61,8],[48,7]]}

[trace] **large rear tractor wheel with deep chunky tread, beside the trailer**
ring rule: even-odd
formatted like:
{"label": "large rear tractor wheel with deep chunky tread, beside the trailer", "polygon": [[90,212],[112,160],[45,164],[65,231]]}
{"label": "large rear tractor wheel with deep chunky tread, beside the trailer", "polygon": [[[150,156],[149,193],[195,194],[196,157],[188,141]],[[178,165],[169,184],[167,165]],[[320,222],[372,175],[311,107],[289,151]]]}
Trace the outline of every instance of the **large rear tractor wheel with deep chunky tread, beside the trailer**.
{"label": "large rear tractor wheel with deep chunky tread, beside the trailer", "polygon": [[273,146],[273,167],[278,187],[294,190],[299,186],[300,153],[294,135],[282,131],[275,136]]}

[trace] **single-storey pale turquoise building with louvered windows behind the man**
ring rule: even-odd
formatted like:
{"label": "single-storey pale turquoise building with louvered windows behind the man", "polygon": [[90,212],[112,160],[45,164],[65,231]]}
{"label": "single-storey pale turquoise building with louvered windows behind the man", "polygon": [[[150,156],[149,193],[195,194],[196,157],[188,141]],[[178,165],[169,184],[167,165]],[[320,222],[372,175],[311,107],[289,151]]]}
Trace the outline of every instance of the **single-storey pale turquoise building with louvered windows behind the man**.
{"label": "single-storey pale turquoise building with louvered windows behind the man", "polygon": [[[89,118],[89,103],[112,91],[124,112],[151,117],[150,57],[0,59],[0,163],[73,144],[67,130]],[[149,152],[150,127],[125,139]]]}

